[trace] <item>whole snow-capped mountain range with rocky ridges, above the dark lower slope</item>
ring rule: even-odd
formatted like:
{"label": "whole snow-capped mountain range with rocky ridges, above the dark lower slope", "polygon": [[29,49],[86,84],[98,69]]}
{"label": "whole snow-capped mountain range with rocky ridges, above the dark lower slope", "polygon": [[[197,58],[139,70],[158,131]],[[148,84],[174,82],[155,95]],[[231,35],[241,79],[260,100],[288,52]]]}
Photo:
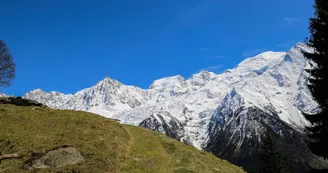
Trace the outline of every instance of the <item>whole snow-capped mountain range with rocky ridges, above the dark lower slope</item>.
{"label": "whole snow-capped mountain range with rocky ridges, above the dark lower slope", "polygon": [[[220,150],[217,155],[222,156],[245,143],[260,142],[264,124],[281,136],[290,129],[298,133],[308,124],[301,111],[317,111],[317,104],[306,87],[304,69],[310,66],[302,50],[313,51],[298,43],[288,52],[247,58],[222,74],[201,71],[189,79],[162,78],[149,89],[106,77],[75,94],[37,89],[24,97],[52,108],[89,111],[146,127],[199,149]],[[230,143],[233,147],[227,149]]]}

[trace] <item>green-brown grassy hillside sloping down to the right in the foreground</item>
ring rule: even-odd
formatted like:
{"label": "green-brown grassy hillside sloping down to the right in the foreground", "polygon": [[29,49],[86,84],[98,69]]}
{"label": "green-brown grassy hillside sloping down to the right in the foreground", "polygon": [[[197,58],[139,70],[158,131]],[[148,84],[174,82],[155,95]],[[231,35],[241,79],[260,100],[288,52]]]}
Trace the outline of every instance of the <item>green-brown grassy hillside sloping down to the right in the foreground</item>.
{"label": "green-brown grassy hillside sloping down to the right in the foreground", "polygon": [[[69,145],[85,162],[60,168],[24,170],[33,153]],[[99,115],[40,107],[0,105],[0,173],[239,173],[241,168],[212,154],[139,127]],[[35,154],[34,154],[35,155]]]}

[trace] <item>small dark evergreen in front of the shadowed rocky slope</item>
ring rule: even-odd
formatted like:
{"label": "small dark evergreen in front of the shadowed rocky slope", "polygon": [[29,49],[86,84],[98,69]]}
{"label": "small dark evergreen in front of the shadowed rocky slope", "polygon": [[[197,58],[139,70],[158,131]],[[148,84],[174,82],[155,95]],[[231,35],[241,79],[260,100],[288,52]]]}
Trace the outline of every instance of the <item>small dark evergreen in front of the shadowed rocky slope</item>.
{"label": "small dark evergreen in front of the shadowed rocky slope", "polygon": [[260,150],[260,158],[264,164],[259,172],[289,173],[286,157],[280,152],[274,135],[276,135],[275,132],[270,127],[267,127]]}

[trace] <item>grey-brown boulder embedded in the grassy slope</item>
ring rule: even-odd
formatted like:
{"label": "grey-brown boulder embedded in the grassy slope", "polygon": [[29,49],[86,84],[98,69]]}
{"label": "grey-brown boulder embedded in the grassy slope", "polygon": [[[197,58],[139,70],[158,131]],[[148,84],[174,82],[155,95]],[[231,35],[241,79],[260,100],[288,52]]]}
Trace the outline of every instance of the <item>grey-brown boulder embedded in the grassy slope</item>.
{"label": "grey-brown boulder embedded in the grassy slope", "polygon": [[80,152],[72,147],[59,148],[47,153],[34,154],[30,160],[25,163],[27,170],[41,168],[58,168],[67,165],[81,164],[84,162]]}

